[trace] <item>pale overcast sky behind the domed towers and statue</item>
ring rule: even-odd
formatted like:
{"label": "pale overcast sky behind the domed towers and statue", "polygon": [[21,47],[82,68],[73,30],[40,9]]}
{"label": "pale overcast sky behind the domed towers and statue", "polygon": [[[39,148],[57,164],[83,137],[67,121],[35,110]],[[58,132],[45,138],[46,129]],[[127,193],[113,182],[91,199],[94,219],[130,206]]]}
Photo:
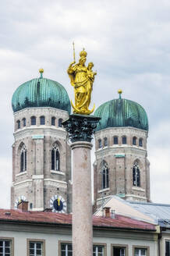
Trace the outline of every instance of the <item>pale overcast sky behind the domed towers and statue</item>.
{"label": "pale overcast sky behind the domed towers and statue", "polygon": [[145,108],[151,199],[170,204],[170,1],[0,0],[0,208],[10,207],[12,94],[42,67],[73,98],[73,41],[76,60],[84,47],[97,70],[96,107],[121,88]]}

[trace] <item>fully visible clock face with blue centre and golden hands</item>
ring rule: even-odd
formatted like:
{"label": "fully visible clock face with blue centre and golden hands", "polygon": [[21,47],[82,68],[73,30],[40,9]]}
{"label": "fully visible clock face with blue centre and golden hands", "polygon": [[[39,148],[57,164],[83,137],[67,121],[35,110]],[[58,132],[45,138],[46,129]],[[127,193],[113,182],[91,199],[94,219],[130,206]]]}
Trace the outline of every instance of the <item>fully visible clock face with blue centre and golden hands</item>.
{"label": "fully visible clock face with blue centre and golden hands", "polygon": [[59,195],[55,195],[50,199],[50,207],[52,208],[52,212],[66,212],[66,201],[63,197]]}

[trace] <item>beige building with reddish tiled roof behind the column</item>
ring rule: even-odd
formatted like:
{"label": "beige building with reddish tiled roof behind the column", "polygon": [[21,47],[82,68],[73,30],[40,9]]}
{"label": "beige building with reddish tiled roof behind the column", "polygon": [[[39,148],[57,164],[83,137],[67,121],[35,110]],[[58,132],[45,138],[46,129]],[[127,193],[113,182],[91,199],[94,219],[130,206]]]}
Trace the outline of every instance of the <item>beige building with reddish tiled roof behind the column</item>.
{"label": "beige building with reddish tiled roof behind the column", "polygon": [[[8,255],[72,255],[72,215],[0,210],[0,223],[0,251]],[[153,224],[115,215],[94,217],[93,227],[94,256],[158,255],[159,230]]]}

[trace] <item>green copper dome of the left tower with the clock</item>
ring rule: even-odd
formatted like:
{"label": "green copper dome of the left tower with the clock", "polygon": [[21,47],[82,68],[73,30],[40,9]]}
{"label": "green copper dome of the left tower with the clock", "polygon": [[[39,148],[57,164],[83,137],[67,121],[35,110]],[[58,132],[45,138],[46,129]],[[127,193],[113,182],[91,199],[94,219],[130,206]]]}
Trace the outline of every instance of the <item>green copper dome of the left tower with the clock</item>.
{"label": "green copper dome of the left tower with the clock", "polygon": [[12,109],[17,112],[23,108],[51,107],[71,112],[66,89],[56,81],[41,76],[21,84],[12,96]]}

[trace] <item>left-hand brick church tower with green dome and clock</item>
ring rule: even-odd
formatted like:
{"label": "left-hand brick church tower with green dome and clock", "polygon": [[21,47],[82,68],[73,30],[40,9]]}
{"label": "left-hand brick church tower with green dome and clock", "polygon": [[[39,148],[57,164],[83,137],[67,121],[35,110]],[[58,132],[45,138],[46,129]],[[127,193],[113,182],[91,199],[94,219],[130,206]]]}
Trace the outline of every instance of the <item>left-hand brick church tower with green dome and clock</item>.
{"label": "left-hand brick church tower with green dome and clock", "polygon": [[62,127],[71,107],[66,89],[43,71],[12,96],[11,208],[23,200],[30,210],[71,212],[71,150]]}

